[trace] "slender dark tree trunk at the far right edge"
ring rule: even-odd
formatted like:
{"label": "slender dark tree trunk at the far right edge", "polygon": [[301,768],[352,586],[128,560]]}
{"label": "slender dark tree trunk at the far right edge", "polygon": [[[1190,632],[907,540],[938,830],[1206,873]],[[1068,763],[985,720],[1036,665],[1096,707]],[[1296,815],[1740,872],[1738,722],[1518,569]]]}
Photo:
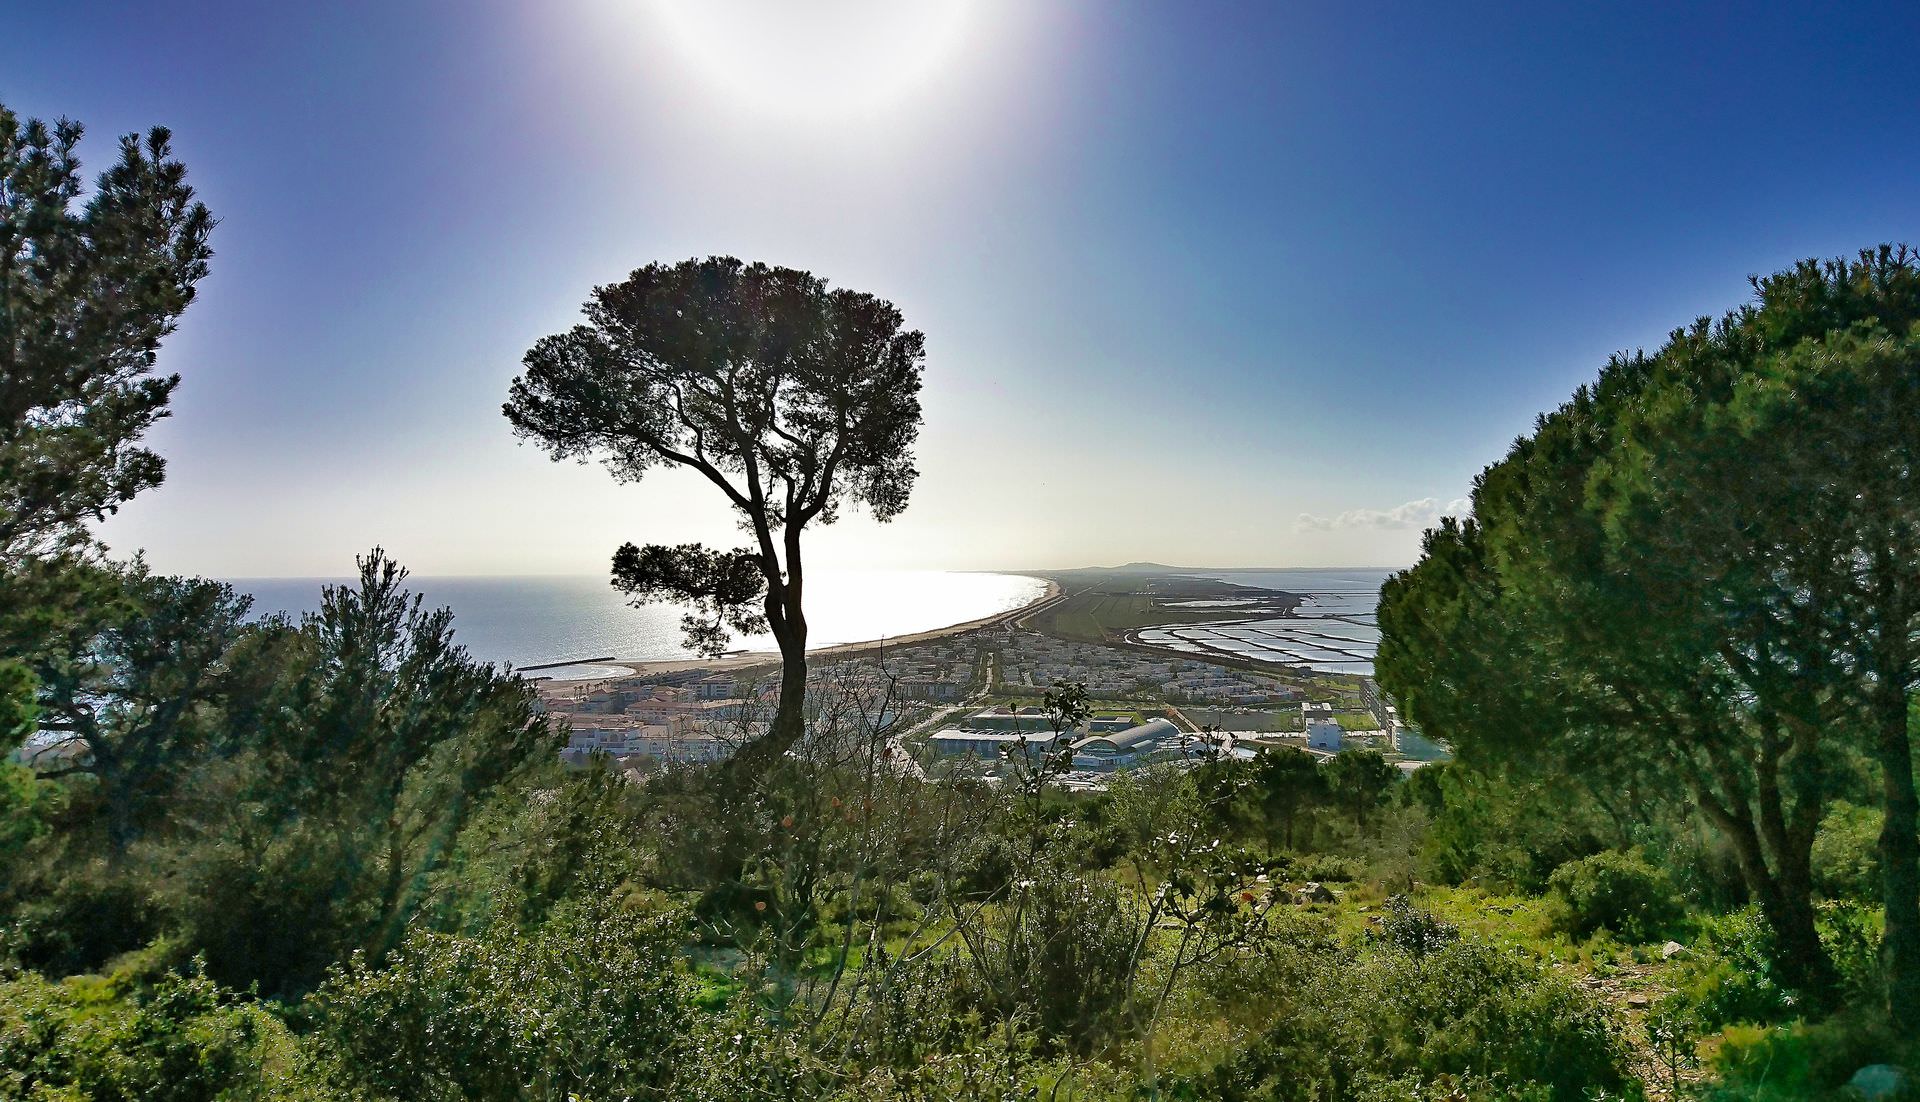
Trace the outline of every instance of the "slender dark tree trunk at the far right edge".
{"label": "slender dark tree trunk at the far right edge", "polygon": [[1920,1031],[1920,801],[1914,797],[1914,758],[1907,693],[1884,682],[1874,707],[1878,726],[1882,803],[1882,906],[1887,931],[1887,1012],[1895,1027]]}

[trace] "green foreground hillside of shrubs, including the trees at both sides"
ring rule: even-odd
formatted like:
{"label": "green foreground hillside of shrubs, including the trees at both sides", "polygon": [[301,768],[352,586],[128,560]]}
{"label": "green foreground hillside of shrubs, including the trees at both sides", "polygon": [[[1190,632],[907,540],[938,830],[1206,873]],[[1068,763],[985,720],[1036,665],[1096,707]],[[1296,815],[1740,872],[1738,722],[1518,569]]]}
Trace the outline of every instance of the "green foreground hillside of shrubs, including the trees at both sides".
{"label": "green foreground hillside of shrubs, including the trees at both sides", "polygon": [[1611,365],[1430,534],[1380,668],[1452,762],[929,781],[816,678],[780,753],[641,783],[378,549],[290,620],[92,539],[163,480],[211,217],[165,132],[83,204],[77,140],[0,111],[0,1096],[1914,1094],[1910,253]]}

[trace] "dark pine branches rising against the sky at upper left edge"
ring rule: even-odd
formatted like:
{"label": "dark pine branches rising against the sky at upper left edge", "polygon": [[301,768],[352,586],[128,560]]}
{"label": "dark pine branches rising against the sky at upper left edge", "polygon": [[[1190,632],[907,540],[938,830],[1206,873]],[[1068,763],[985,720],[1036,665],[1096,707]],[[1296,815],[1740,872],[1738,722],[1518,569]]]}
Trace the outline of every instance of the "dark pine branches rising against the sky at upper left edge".
{"label": "dark pine branches rising against the sky at upper left edge", "polygon": [[207,275],[213,217],[171,134],[125,136],[81,202],[81,125],[0,106],[0,555],[71,547],[157,486],[138,445],[177,374],[159,342]]}

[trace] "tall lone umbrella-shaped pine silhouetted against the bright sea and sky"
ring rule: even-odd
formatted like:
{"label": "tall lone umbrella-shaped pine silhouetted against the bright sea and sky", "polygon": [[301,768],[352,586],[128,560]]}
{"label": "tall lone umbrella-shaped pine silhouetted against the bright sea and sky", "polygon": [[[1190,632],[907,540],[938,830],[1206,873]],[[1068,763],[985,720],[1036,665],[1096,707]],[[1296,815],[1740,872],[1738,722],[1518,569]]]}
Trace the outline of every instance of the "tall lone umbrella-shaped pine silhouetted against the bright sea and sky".
{"label": "tall lone umbrella-shaped pine silhouetted against the bright sea and sky", "polygon": [[889,301],[733,257],[647,265],[595,288],[586,317],[526,353],[507,420],[622,482],[674,465],[726,495],[751,545],[628,543],[612,580],[636,603],[691,603],[687,639],[705,653],[730,632],[774,635],[780,707],[739,755],[758,770],[804,724],[801,534],[847,503],[879,520],[906,509],[925,338]]}

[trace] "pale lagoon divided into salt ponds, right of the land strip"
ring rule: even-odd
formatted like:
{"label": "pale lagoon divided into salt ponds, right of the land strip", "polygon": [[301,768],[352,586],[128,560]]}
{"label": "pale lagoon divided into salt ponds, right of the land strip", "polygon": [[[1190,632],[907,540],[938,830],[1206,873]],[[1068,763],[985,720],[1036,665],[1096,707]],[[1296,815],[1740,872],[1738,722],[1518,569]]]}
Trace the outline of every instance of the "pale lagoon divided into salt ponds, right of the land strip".
{"label": "pale lagoon divided into salt ponds, right of the land strip", "polygon": [[1194,570],[1256,589],[1298,593],[1290,616],[1248,618],[1235,601],[1217,601],[1219,622],[1171,624],[1139,634],[1142,643],[1192,655],[1225,655],[1308,666],[1327,674],[1373,676],[1380,649],[1380,586],[1392,570]]}

